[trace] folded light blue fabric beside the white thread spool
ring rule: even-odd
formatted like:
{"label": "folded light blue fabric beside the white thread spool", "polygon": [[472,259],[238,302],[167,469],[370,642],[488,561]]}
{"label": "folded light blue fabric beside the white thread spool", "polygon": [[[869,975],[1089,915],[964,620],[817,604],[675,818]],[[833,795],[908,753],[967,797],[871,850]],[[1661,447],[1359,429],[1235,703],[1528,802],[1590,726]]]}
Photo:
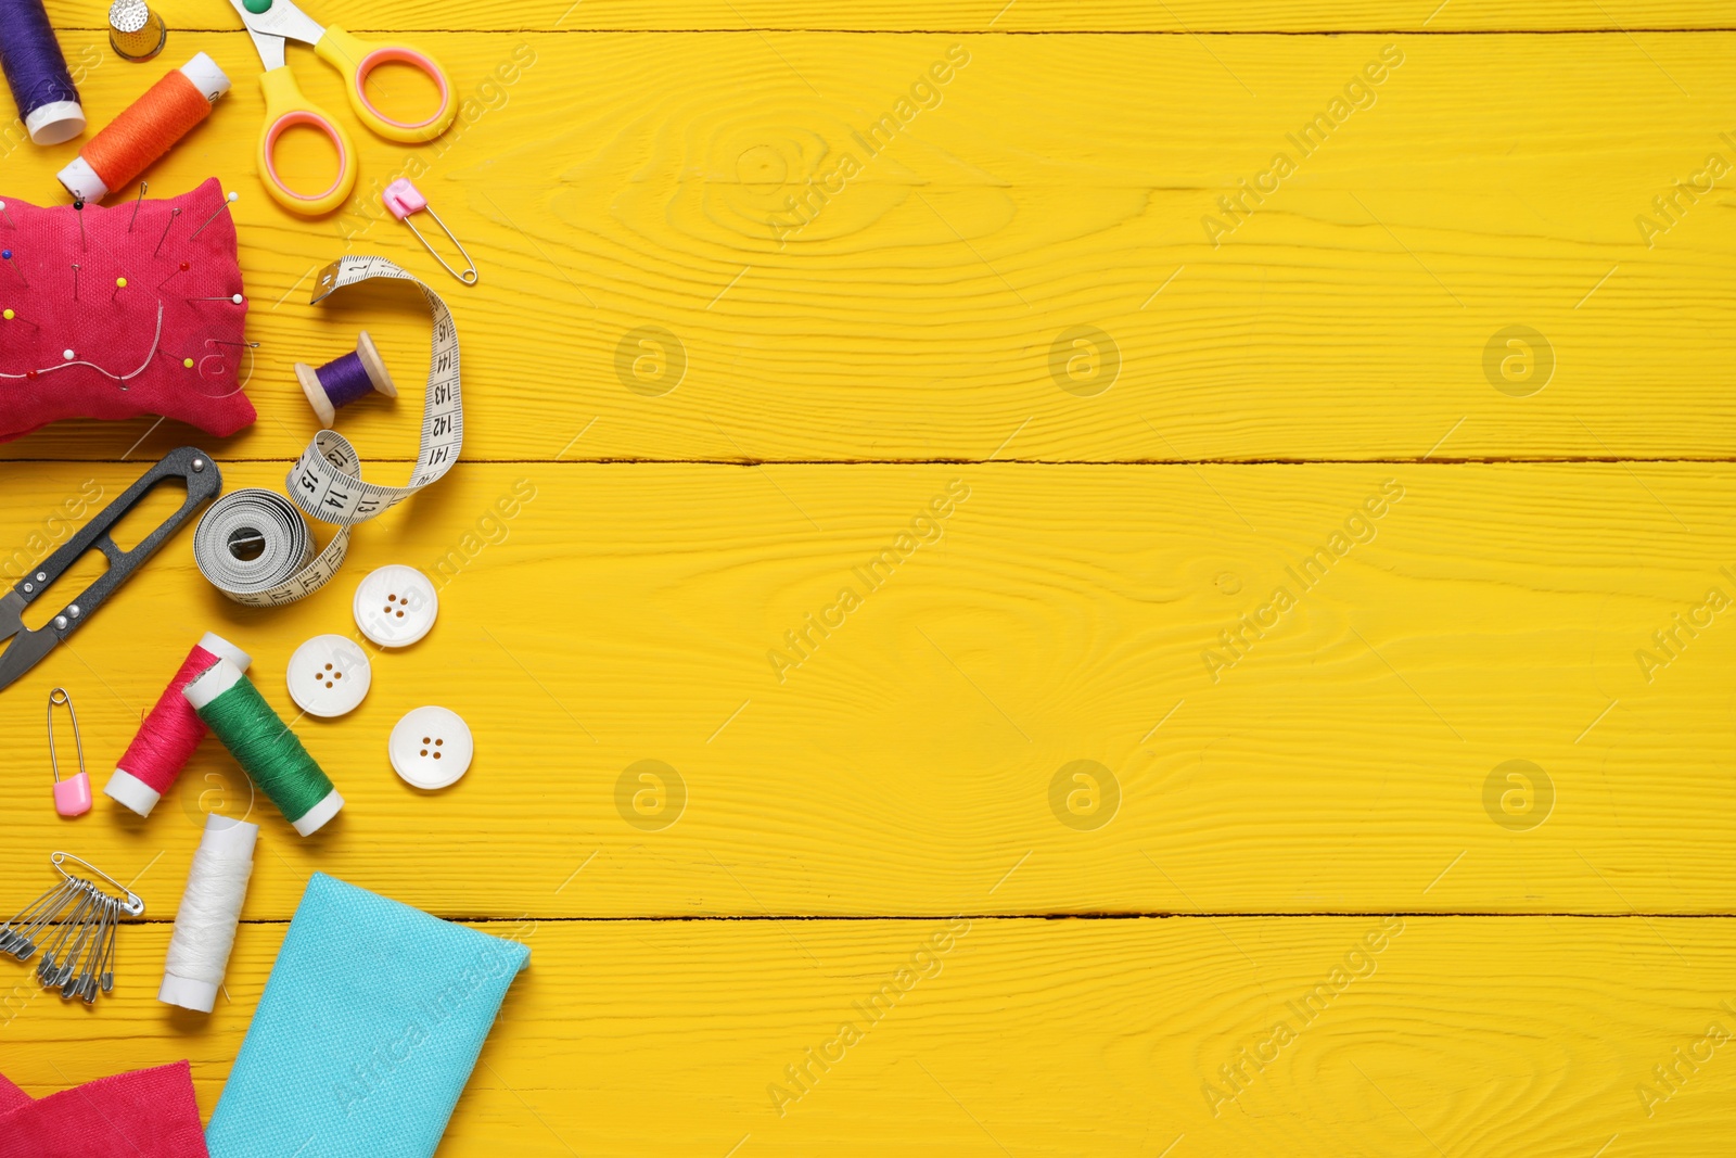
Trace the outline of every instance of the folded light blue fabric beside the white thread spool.
{"label": "folded light blue fabric beside the white thread spool", "polygon": [[529,948],[314,873],[212,1158],[429,1158]]}

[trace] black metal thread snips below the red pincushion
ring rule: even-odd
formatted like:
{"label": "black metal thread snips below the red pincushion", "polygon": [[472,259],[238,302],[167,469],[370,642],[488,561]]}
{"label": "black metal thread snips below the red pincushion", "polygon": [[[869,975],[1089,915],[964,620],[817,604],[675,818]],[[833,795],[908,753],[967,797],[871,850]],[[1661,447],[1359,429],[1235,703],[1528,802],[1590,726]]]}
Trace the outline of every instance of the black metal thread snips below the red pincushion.
{"label": "black metal thread snips below the red pincushion", "polygon": [[[181,509],[163,519],[132,550],[122,550],[109,531],[153,488],[170,479],[179,479],[187,488]],[[120,498],[78,528],[71,538],[61,543],[59,550],[26,571],[12,590],[0,595],[0,641],[12,641],[0,651],[0,689],[9,688],[19,675],[36,667],[54,651],[56,644],[87,623],[97,608],[115,594],[115,589],[132,578],[134,571],[144,566],[144,561],[155,556],[156,549],[168,542],[168,536],[179,531],[193,517],[193,512],[215,498],[220,490],[222,470],[217,469],[210,455],[196,446],[172,450],[137,483],[122,491]],[[54,585],[54,580],[61,578],[92,547],[108,556],[108,571],[99,575],[47,623],[26,628],[24,608],[40,599]]]}

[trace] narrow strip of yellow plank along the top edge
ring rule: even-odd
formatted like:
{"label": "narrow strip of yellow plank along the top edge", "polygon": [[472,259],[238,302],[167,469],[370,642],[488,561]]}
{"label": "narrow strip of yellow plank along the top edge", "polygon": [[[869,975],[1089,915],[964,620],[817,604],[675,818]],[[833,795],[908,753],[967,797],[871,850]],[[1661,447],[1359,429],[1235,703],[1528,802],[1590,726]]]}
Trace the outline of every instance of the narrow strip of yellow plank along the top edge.
{"label": "narrow strip of yellow plank along the top edge", "polygon": [[[49,0],[56,28],[101,28],[101,9]],[[236,21],[203,0],[153,5],[175,30],[224,30]],[[1547,0],[1514,9],[1498,0],[1451,0],[1434,7],[1380,0],[1323,3],[1213,3],[1212,0],[866,0],[821,7],[800,0],[542,0],[535,5],[484,0],[453,12],[434,0],[309,0],[326,24],[359,30],[464,31],[1621,31],[1733,26],[1712,0]]]}

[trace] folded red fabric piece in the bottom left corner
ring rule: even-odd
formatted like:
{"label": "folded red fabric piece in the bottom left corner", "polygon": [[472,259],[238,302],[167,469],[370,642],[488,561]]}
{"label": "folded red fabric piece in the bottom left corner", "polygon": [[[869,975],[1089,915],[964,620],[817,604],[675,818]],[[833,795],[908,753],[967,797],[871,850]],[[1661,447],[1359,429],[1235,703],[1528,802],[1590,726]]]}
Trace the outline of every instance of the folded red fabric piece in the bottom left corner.
{"label": "folded red fabric piece in the bottom left corner", "polygon": [[177,1061],[97,1078],[40,1101],[5,1082],[0,1158],[210,1158],[193,1071]]}

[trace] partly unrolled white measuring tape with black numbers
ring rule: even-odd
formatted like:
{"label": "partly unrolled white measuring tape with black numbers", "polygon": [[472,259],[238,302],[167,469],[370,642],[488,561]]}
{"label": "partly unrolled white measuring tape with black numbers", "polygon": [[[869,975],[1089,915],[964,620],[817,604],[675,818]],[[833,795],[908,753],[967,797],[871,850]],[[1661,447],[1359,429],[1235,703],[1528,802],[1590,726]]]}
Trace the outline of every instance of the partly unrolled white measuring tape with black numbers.
{"label": "partly unrolled white measuring tape with black numbers", "polygon": [[[385,514],[446,474],[464,448],[464,396],[458,391],[458,330],[439,293],[384,257],[342,257],[319,271],[312,302],[372,278],[401,278],[429,300],[434,342],[422,401],[422,441],[406,486],[361,477],[361,457],[337,431],[319,431],[285,479],[290,497],[267,490],[224,495],[193,531],[193,559],[217,590],[236,602],[274,608],[314,594],[349,554],[349,530]],[[293,505],[292,505],[293,503]],[[300,512],[339,531],[314,557]]]}

